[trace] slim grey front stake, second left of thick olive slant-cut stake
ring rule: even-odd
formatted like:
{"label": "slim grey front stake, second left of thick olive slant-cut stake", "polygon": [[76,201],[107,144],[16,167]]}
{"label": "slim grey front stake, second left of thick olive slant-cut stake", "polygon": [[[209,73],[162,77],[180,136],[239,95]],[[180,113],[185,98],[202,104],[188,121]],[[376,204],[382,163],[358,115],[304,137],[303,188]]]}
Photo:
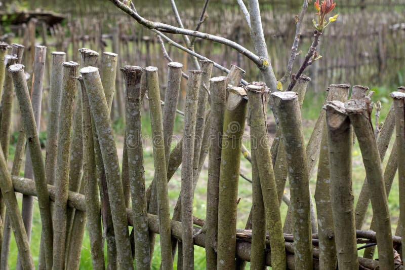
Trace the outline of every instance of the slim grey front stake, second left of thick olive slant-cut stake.
{"label": "slim grey front stake, second left of thick olive slant-cut stake", "polygon": [[[193,241],[193,162],[197,102],[202,72],[190,70],[184,111],[184,135],[181,166],[181,221],[183,227],[183,269],[194,268]],[[180,254],[178,255],[180,256]]]}

